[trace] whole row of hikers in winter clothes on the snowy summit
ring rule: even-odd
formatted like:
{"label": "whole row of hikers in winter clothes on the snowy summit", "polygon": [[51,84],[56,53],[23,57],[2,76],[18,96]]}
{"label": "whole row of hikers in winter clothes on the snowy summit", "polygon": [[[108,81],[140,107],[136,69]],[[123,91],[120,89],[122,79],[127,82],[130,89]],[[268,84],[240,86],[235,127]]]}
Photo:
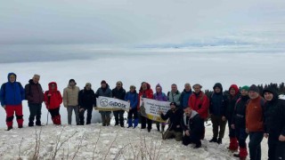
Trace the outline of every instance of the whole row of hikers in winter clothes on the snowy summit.
{"label": "whole row of hikers in winter clothes on the snowy summit", "polygon": [[[141,129],[151,132],[152,120],[140,115],[141,98],[168,101],[170,109],[167,113],[159,111],[161,119],[167,123],[155,122],[158,131],[162,132],[164,140],[175,138],[182,140],[183,145],[195,144],[201,147],[201,140],[205,137],[205,121],[211,119],[213,124],[213,138],[209,142],[223,143],[225,126],[228,124],[230,144],[228,149],[239,153],[233,156],[246,159],[248,149],[246,140],[249,135],[249,156],[252,160],[261,159],[261,141],[268,139],[268,158],[285,159],[285,100],[280,100],[276,91],[265,88],[262,95],[255,84],[250,87],[243,86],[239,89],[236,84],[229,88],[229,95],[223,92],[222,84],[215,84],[213,94],[208,97],[201,91],[200,84],[184,84],[183,92],[179,92],[176,84],[171,85],[170,92],[162,92],[162,87],[157,84],[155,92],[151,84],[142,82],[140,90],[136,92],[134,85],[129,91],[123,88],[123,83],[118,81],[114,89],[102,80],[101,87],[96,92],[92,85],[86,83],[83,90],[77,87],[74,79],[63,90],[63,96],[58,91],[57,84],[48,84],[48,91],[43,92],[39,84],[39,75],[34,75],[23,87],[16,81],[14,73],[8,74],[8,82],[2,84],[0,90],[1,105],[6,111],[7,130],[12,129],[14,114],[18,127],[23,127],[22,100],[28,100],[30,115],[28,126],[42,125],[42,103],[52,116],[53,124],[61,124],[60,107],[68,111],[68,124],[72,122],[72,113],[76,116],[78,125],[91,124],[92,111],[96,108],[96,98],[99,96],[126,100],[130,103],[127,116],[127,128],[136,128],[141,120]],[[193,89],[194,91],[192,92]],[[85,123],[85,111],[87,111]],[[102,126],[110,125],[110,111],[99,111],[102,116]],[[124,110],[113,111],[115,125],[124,127]],[[35,122],[36,117],[36,123]],[[168,125],[167,130],[165,129]]]}

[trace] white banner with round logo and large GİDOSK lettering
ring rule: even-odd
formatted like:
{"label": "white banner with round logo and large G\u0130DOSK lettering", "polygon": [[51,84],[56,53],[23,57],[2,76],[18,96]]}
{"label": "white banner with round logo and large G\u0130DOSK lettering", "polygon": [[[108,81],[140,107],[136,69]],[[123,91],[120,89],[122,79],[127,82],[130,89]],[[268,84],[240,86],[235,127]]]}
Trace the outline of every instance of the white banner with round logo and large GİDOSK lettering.
{"label": "white banner with round logo and large G\u0130DOSK lettering", "polygon": [[125,100],[99,96],[96,99],[96,109],[103,111],[126,110],[129,111],[130,103]]}

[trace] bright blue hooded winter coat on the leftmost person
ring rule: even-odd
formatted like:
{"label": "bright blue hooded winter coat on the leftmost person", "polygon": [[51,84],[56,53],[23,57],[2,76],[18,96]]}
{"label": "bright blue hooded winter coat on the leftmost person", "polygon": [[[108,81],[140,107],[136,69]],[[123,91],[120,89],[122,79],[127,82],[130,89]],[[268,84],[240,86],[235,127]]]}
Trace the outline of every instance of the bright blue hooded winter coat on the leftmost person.
{"label": "bright blue hooded winter coat on the leftmost person", "polygon": [[17,76],[14,73],[8,74],[8,82],[2,84],[0,90],[0,100],[1,106],[5,105],[20,105],[22,100],[25,100],[25,91],[22,85],[19,82],[11,83],[9,81],[9,76],[14,75],[17,79]]}

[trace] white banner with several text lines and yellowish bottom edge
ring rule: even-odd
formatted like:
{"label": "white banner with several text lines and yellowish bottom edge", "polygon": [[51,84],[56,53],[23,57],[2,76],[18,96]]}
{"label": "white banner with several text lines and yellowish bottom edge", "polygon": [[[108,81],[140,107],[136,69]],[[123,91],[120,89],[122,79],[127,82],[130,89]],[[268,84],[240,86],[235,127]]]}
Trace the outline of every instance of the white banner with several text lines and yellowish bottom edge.
{"label": "white banner with several text lines and yellowish bottom edge", "polygon": [[163,114],[166,114],[167,111],[170,109],[169,101],[159,101],[142,98],[141,102],[141,116],[145,116],[157,122],[166,122],[161,119],[159,111],[162,111]]}

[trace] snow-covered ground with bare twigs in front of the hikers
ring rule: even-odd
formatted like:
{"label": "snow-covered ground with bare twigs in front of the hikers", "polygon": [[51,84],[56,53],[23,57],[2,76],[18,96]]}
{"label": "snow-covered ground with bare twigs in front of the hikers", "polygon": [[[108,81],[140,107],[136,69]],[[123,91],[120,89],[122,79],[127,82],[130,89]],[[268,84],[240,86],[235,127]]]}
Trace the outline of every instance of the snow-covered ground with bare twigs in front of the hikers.
{"label": "snow-covered ground with bare twigs in front of the hikers", "polygon": [[[140,128],[102,127],[102,124],[49,124],[42,128],[25,126],[9,132],[2,129],[0,159],[31,159],[35,155],[40,159],[52,159],[54,155],[55,159],[142,159],[142,156],[145,159],[167,160],[238,159],[227,150],[227,136],[222,145],[208,142],[212,138],[211,125],[207,126],[206,139],[202,140],[202,148],[198,149],[194,149],[193,145],[183,146],[181,141],[162,140],[155,125],[152,128],[151,132],[147,132]],[[262,142],[262,159],[267,157],[265,141]]]}

